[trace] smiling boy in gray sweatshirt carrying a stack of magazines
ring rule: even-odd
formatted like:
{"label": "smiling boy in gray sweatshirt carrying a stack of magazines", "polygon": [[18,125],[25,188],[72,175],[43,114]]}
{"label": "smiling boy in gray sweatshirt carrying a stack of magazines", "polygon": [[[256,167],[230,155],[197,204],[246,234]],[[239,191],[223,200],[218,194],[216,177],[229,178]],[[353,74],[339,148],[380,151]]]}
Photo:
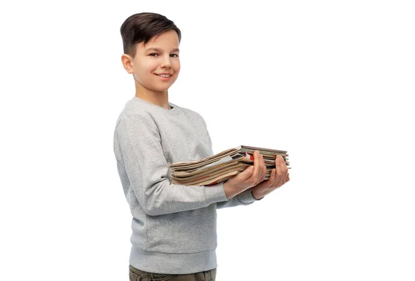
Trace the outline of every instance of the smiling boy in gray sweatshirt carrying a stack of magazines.
{"label": "smiling boy in gray sweatshirt carrying a stack of magazines", "polygon": [[116,122],[114,153],[131,208],[130,280],[215,280],[216,208],[248,205],[289,180],[282,157],[264,181],[264,158],[225,183],[170,182],[169,164],[212,156],[203,118],[168,101],[180,71],[181,31],[155,13],[127,18],[120,28],[122,65],[136,95]]}

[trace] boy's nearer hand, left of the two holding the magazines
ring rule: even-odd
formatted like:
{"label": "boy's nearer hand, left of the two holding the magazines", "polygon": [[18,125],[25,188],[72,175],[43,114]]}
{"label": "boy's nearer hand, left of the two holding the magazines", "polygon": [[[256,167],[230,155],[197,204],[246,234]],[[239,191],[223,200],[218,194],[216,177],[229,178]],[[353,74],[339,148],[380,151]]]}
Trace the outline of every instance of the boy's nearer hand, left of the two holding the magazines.
{"label": "boy's nearer hand, left of the two holding the magazines", "polygon": [[225,194],[228,199],[231,199],[235,195],[252,188],[261,181],[264,181],[266,176],[266,166],[264,163],[264,157],[259,154],[257,150],[254,152],[254,165],[248,167],[243,172],[231,176],[228,181],[223,183]]}

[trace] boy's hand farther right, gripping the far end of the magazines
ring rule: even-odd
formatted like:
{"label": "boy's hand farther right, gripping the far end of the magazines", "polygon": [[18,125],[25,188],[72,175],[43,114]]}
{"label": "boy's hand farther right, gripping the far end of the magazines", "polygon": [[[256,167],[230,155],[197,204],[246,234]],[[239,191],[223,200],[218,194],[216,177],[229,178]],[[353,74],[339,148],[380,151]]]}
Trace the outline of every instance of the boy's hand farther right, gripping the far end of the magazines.
{"label": "boy's hand farther right, gripping the far end of the magazines", "polygon": [[288,167],[281,155],[275,158],[275,169],[271,172],[270,179],[263,181],[252,188],[252,196],[255,199],[261,199],[266,194],[273,192],[284,183],[290,181]]}

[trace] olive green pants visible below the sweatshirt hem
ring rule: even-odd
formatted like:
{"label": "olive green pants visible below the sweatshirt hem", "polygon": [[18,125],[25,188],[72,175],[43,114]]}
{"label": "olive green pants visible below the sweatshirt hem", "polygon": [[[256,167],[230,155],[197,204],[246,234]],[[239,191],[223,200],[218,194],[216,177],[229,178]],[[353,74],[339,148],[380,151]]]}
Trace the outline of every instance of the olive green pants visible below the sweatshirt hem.
{"label": "olive green pants visible below the sweatshirt hem", "polygon": [[129,266],[130,281],[215,281],[216,269],[201,271],[192,274],[160,274],[140,271]]}

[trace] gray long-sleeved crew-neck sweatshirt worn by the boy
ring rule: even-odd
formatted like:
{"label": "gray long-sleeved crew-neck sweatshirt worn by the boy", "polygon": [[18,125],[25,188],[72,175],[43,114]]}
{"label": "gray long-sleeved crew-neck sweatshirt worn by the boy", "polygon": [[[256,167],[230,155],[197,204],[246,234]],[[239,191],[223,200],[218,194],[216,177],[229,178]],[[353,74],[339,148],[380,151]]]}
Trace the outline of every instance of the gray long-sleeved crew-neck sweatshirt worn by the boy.
{"label": "gray long-sleeved crew-neck sweatshirt worn by the boy", "polygon": [[129,263],[142,271],[187,274],[216,268],[216,208],[256,201],[246,190],[228,200],[223,183],[171,183],[169,164],[212,156],[205,120],[169,103],[133,97],[116,122],[113,149],[132,215]]}

